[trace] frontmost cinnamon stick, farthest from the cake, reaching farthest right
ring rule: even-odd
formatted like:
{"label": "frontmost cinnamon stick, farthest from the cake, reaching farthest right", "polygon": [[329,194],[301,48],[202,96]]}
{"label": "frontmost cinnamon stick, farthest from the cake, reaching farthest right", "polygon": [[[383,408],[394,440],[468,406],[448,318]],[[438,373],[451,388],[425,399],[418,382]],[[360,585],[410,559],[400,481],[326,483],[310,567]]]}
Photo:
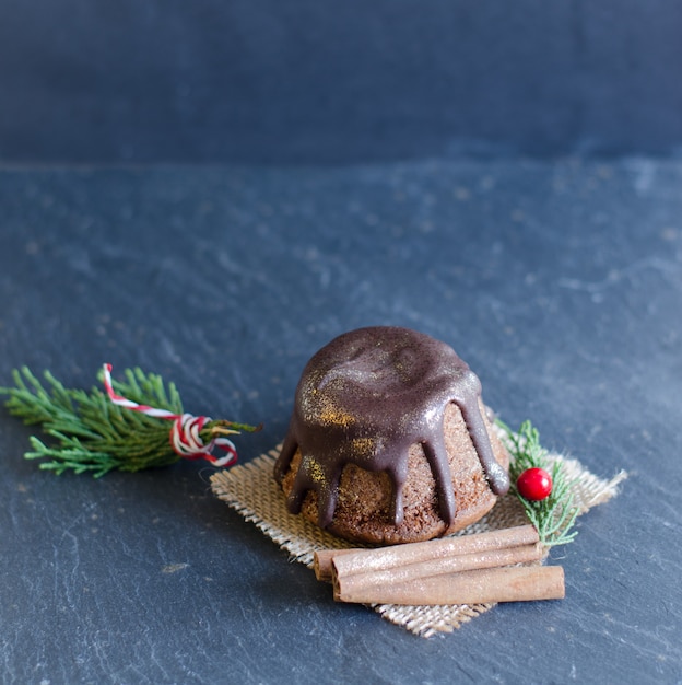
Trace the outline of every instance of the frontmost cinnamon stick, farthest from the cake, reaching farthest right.
{"label": "frontmost cinnamon stick, farthest from the cake, reaching farthest right", "polygon": [[561,566],[518,566],[462,571],[348,592],[334,584],[334,600],[362,604],[485,604],[561,600]]}

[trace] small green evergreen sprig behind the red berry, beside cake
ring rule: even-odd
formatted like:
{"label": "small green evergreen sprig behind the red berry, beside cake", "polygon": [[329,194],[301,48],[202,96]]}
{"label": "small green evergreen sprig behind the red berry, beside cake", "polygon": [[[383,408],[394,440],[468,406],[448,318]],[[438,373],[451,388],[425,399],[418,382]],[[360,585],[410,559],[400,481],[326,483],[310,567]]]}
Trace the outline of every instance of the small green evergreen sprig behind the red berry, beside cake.
{"label": "small green evergreen sprig behind the red berry, beside cake", "polygon": [[[518,432],[497,420],[506,433],[507,448],[511,461],[509,477],[511,489],[520,500],[528,519],[536,526],[540,542],[545,547],[565,545],[575,539],[577,531],[572,531],[579,513],[574,503],[573,481],[565,475],[560,460],[550,460],[548,451],[540,444],[540,433],[530,421],[524,421]],[[527,468],[543,468],[552,477],[552,491],[540,501],[531,501],[522,497],[516,488],[517,478]]]}

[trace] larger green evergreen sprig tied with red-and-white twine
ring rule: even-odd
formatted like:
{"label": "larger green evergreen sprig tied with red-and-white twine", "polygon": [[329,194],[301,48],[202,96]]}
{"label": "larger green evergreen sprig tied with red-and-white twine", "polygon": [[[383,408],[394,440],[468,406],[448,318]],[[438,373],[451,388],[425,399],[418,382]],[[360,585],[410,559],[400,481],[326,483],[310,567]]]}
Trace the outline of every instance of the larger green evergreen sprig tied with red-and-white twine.
{"label": "larger green evergreen sprig tied with red-and-white twine", "polygon": [[[14,387],[0,387],[9,395],[7,407],[24,423],[42,425],[52,439],[47,445],[31,438],[26,458],[48,460],[40,468],[62,474],[90,472],[101,477],[110,471],[141,471],[167,466],[181,458],[170,446],[170,422],[113,404],[98,387],[90,393],[64,387],[49,371],[40,382],[28,368],[13,372]],[[173,383],[141,369],[127,369],[125,381],[114,381],[116,392],[133,402],[183,414],[183,403]],[[212,420],[200,432],[208,443],[216,434],[251,432],[257,427]]]}

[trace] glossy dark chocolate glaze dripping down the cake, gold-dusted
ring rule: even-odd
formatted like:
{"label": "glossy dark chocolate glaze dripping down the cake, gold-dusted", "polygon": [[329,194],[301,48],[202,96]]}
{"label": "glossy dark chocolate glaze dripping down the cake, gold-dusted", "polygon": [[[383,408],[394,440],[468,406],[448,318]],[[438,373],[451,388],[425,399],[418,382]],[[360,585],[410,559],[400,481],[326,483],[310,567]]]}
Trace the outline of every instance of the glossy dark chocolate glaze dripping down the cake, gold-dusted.
{"label": "glossy dark chocolate glaze dripping down the cake, gold-dusted", "polygon": [[479,409],[481,383],[445,342],[392,326],[360,328],[334,338],[306,364],[274,476],[282,483],[296,450],[302,462],[287,506],[298,513],[308,490],[318,496],[319,525],[331,523],[346,464],[386,472],[393,485],[392,518],[402,522],[402,486],[410,445],[422,444],[438,494],[442,519],[456,513],[445,449],[449,403],[461,410],[491,490],[509,488],[493,455]]}

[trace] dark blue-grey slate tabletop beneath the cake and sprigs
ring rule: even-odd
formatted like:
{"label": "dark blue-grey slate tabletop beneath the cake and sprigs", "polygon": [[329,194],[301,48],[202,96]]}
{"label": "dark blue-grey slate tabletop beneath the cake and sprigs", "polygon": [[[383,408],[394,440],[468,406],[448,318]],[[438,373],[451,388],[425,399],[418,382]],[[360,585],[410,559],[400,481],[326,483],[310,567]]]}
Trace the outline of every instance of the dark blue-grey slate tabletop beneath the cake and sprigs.
{"label": "dark blue-grey slate tabletop beneath the cake and sprigs", "polygon": [[0,171],[0,379],[103,361],[283,436],[307,358],[366,324],[451,344],[511,425],[622,494],[554,553],[562,602],[416,638],[329,589],[183,463],[22,458],[0,413],[5,683],[679,683],[682,164]]}

